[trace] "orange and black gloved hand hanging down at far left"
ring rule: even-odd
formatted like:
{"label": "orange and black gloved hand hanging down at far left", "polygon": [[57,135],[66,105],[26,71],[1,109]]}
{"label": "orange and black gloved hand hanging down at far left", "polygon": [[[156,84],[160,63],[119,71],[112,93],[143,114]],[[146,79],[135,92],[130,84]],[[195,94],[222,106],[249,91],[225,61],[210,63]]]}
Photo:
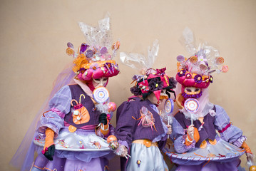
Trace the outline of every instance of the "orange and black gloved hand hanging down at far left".
{"label": "orange and black gloved hand hanging down at far left", "polygon": [[53,160],[53,155],[55,152],[55,145],[53,142],[54,132],[51,128],[46,129],[46,142],[44,143],[44,147],[42,153],[48,160]]}

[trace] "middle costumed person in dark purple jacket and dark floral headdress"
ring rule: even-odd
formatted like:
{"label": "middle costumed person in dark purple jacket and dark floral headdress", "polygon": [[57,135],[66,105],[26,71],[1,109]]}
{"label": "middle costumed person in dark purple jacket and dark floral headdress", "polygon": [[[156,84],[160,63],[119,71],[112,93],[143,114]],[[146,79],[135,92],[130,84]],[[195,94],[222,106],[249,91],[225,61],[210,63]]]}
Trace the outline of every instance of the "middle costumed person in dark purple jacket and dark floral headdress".
{"label": "middle costumed person in dark purple jacket and dark floral headdress", "polygon": [[[142,55],[121,53],[121,61],[136,68],[148,67],[141,75],[133,76],[134,96],[122,103],[117,110],[116,137],[121,155],[121,170],[168,170],[160,149],[164,147],[171,126],[165,125],[158,105],[174,93],[175,79],[165,74],[165,68],[150,68],[158,53],[158,42]],[[128,156],[128,157],[127,157]],[[129,157],[130,156],[130,157]]]}

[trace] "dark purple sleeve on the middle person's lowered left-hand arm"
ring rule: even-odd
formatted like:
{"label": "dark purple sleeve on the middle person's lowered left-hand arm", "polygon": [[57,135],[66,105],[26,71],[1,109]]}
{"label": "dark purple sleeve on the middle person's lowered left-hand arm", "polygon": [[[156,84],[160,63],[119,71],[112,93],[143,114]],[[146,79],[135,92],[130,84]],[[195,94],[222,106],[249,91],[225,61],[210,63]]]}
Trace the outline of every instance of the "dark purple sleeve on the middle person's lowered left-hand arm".
{"label": "dark purple sleeve on the middle person's lowered left-hand arm", "polygon": [[135,102],[122,103],[116,112],[116,137],[121,145],[126,145],[128,148],[133,140],[132,133],[136,122],[132,118],[135,115],[135,108],[130,103]]}

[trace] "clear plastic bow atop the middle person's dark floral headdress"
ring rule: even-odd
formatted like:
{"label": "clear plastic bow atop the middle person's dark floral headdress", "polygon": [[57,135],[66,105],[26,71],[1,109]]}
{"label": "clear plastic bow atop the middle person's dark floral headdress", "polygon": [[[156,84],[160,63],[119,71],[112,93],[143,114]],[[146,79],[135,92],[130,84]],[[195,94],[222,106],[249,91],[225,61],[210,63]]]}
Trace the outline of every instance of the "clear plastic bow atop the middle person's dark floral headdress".
{"label": "clear plastic bow atop the middle person's dark floral headdress", "polygon": [[145,69],[146,71],[148,68],[152,68],[153,63],[155,62],[155,59],[158,56],[158,50],[159,50],[159,43],[158,43],[158,40],[155,40],[153,42],[153,46],[151,48],[148,47],[147,57],[138,53],[121,52],[120,60],[126,66],[130,66],[130,68],[135,68],[138,70]]}

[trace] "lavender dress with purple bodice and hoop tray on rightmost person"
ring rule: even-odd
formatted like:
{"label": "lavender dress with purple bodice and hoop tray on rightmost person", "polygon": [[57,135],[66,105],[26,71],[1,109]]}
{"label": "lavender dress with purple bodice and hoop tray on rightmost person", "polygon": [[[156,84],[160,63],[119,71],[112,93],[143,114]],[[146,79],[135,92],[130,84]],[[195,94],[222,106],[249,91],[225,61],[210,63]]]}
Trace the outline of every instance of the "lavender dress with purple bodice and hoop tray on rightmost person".
{"label": "lavender dress with purple bodice and hoop tray on rightmost person", "polygon": [[225,171],[237,170],[240,165],[239,157],[245,153],[240,146],[246,140],[242,130],[230,124],[230,118],[219,105],[214,105],[211,111],[205,115],[204,124],[200,120],[193,121],[195,128],[198,128],[200,140],[193,140],[190,146],[184,143],[185,129],[191,124],[191,120],[180,112],[173,118],[172,138],[175,151],[170,151],[168,147],[163,151],[178,164],[176,170]]}

